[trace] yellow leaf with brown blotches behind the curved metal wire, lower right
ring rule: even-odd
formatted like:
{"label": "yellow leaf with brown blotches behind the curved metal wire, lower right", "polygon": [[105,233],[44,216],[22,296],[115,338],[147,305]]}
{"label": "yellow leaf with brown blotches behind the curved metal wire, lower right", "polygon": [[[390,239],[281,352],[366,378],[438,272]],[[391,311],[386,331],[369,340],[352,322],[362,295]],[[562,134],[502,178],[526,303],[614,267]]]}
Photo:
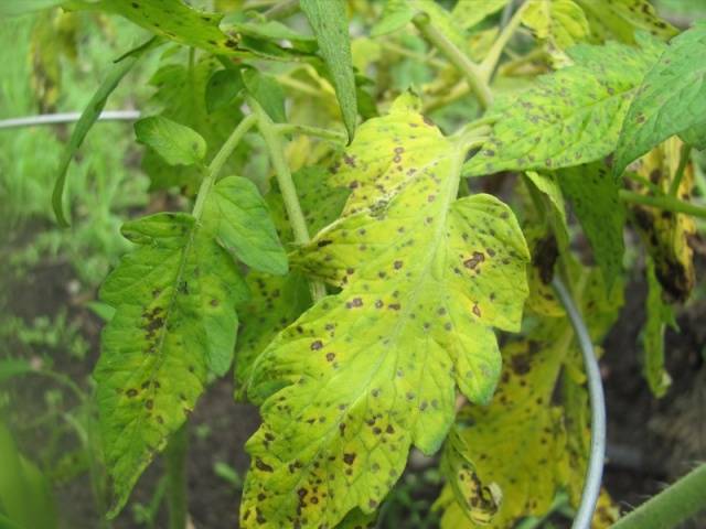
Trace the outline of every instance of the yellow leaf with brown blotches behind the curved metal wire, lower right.
{"label": "yellow leaf with brown blotches behind the curved metal wire, lower right", "polygon": [[[598,342],[618,315],[620,291],[607,298],[595,269],[571,262],[568,272],[589,333]],[[567,365],[584,377],[574,331],[565,315],[539,319],[527,336],[507,342],[502,354],[498,391],[489,407],[467,404],[461,410],[462,443],[456,446],[473,468],[474,483],[502,492],[498,514],[486,520],[494,529],[510,529],[521,518],[545,515],[561,488],[569,489],[576,506],[590,435],[581,382],[571,381],[575,392],[563,391],[557,400],[556,385],[569,378]],[[468,526],[463,505],[442,493],[437,507],[445,509],[443,529]]]}

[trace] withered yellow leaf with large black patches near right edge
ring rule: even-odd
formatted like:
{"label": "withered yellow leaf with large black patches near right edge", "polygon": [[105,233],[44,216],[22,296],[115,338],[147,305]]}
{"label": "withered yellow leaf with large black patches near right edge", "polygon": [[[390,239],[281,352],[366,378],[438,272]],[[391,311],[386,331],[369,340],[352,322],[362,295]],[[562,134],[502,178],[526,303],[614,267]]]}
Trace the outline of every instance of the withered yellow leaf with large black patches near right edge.
{"label": "withered yellow leaf with large black patches near right edge", "polygon": [[[682,142],[671,138],[640,160],[638,174],[667,193],[680,164],[681,151]],[[639,193],[649,192],[646,186],[635,187]],[[687,165],[676,195],[689,201],[693,187],[694,169]],[[686,301],[696,284],[692,249],[692,238],[696,235],[694,219],[689,215],[640,205],[632,206],[632,213],[648,252],[654,260],[655,273],[665,295],[671,301]]]}

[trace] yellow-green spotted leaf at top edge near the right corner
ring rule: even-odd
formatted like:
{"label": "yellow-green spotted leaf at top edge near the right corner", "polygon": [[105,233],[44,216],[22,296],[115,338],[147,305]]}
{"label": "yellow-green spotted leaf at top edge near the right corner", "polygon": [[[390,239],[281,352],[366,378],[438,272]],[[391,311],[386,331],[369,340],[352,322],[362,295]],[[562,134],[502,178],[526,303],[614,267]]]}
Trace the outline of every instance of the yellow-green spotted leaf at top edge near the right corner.
{"label": "yellow-green spotted leaf at top edge near the right corner", "polygon": [[678,31],[660,19],[650,0],[575,0],[586,13],[591,35],[597,42],[635,42],[639,31],[664,41]]}

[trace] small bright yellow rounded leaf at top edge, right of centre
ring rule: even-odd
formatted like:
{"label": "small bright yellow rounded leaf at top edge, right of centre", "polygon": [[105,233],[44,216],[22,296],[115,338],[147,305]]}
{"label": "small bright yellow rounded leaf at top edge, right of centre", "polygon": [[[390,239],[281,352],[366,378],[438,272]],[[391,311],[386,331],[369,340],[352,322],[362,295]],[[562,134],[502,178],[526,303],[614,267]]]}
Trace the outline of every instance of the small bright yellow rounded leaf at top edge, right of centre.
{"label": "small bright yellow rounded leaf at top edge, right of centre", "polygon": [[557,50],[585,40],[590,31],[584,10],[574,0],[530,0],[522,22]]}

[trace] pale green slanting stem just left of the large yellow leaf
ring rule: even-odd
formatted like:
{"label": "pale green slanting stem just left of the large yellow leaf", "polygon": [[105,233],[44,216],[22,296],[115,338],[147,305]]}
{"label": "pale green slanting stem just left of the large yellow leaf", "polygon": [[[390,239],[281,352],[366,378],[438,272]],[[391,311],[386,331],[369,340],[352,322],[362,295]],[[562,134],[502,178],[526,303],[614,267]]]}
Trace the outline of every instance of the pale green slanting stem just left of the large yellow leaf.
{"label": "pale green slanting stem just left of the large yellow leaf", "polygon": [[[285,150],[282,148],[282,141],[280,132],[277,126],[272,122],[270,117],[263,110],[263,107],[252,97],[246,98],[247,105],[253,110],[253,115],[257,117],[257,128],[263,134],[265,145],[269,154],[275,174],[277,176],[277,183],[279,184],[279,191],[282,194],[282,201],[285,203],[285,209],[287,209],[287,217],[289,224],[295,234],[295,242],[298,245],[306,245],[311,240],[309,237],[309,230],[307,229],[307,222],[304,220],[304,214],[301,210],[299,204],[299,197],[297,196],[297,188],[291,177],[291,171],[285,160]],[[309,283],[311,290],[311,296],[314,302],[319,301],[325,295],[325,287],[322,282],[312,280]]]}

